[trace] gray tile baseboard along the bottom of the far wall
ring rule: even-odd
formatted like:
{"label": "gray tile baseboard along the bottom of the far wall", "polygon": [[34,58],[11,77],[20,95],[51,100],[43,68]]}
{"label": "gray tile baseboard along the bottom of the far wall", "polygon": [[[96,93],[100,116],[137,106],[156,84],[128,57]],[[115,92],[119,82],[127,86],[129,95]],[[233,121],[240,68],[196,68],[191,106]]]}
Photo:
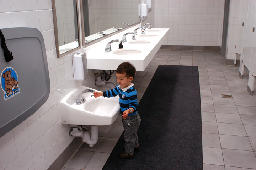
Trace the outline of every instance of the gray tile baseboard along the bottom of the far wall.
{"label": "gray tile baseboard along the bottom of the far wall", "polygon": [[160,50],[219,51],[220,46],[162,45]]}

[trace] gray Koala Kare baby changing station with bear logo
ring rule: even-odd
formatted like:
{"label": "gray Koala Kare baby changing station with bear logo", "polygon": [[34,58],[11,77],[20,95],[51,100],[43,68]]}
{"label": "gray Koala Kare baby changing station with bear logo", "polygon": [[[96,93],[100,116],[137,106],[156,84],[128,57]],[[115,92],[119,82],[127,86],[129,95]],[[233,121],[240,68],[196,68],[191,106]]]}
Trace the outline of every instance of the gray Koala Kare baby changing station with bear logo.
{"label": "gray Koala Kare baby changing station with bear logo", "polygon": [[41,32],[36,28],[5,28],[1,31],[13,60],[6,62],[0,47],[0,137],[34,114],[50,93]]}

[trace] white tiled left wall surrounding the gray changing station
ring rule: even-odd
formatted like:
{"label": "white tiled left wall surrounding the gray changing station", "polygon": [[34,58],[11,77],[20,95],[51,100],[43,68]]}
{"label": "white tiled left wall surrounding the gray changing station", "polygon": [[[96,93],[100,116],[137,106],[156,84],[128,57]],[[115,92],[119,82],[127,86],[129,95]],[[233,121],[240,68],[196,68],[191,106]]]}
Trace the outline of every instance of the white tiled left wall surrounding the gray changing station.
{"label": "white tiled left wall surrounding the gray changing station", "polygon": [[[51,0],[0,1],[0,29],[10,27],[33,27],[41,31],[50,95],[36,113],[0,138],[0,170],[46,170],[74,138],[69,136],[69,127],[60,123],[59,102],[82,84],[104,89],[95,87],[93,73],[89,73],[87,81],[73,80],[71,54],[57,58]],[[115,77],[111,81],[116,82]]]}

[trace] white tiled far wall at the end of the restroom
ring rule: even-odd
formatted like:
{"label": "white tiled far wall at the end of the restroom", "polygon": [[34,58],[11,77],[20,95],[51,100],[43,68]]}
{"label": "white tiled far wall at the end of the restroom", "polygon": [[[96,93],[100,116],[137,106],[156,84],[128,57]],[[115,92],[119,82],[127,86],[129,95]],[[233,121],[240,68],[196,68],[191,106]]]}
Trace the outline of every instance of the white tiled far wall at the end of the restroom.
{"label": "white tiled far wall at the end of the restroom", "polygon": [[155,0],[155,28],[170,28],[164,45],[221,46],[224,0]]}

